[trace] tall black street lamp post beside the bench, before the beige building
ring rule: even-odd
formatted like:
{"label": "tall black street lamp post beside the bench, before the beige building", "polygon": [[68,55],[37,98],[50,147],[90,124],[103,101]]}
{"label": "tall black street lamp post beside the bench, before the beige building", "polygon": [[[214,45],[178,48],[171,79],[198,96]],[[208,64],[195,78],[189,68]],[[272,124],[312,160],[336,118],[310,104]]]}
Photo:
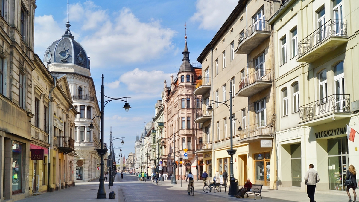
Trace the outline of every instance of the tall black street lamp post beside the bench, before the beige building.
{"label": "tall black street lamp post beside the bench, before the beige building", "polygon": [[[228,195],[231,195],[231,196],[234,196],[234,194],[236,194],[237,192],[236,192],[236,189],[237,189],[237,184],[238,184],[238,181],[237,182],[235,182],[237,179],[236,178],[234,178],[234,173],[233,173],[233,155],[234,154],[236,154],[236,149],[233,149],[233,121],[232,121],[232,119],[233,119],[233,114],[232,114],[232,106],[233,106],[233,104],[232,104],[232,99],[233,99],[233,97],[232,97],[232,80],[230,80],[229,81],[229,86],[230,86],[230,90],[229,90],[229,105],[228,104],[226,104],[226,102],[228,101],[228,100],[226,100],[226,101],[223,101],[223,102],[218,102],[218,101],[214,101],[214,100],[210,100],[210,101],[212,101],[213,103],[220,103],[220,104],[224,104],[224,105],[226,105],[228,108],[229,108],[229,121],[230,121],[230,149],[227,149],[227,152],[228,152],[228,155],[230,155],[230,164],[229,164],[229,173],[230,173],[230,175],[229,175],[229,181],[230,181],[230,183],[229,183],[229,189],[228,189]],[[212,104],[213,104],[212,103]],[[211,105],[209,105],[208,106],[208,108],[207,108],[208,110],[213,110],[213,108],[212,108],[212,106]],[[234,192],[236,192],[236,193],[234,193]]]}

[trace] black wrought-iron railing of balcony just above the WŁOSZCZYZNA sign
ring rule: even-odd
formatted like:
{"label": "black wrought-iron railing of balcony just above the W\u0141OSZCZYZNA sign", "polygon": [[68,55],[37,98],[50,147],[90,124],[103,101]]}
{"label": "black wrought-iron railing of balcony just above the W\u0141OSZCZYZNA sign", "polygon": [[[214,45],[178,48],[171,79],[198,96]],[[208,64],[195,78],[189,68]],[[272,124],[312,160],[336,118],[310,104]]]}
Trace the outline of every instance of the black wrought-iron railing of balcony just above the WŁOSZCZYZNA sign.
{"label": "black wrought-iron railing of balcony just above the W\u0141OSZCZYZNA sign", "polygon": [[333,94],[299,107],[299,121],[309,121],[332,113],[350,113],[349,94]]}

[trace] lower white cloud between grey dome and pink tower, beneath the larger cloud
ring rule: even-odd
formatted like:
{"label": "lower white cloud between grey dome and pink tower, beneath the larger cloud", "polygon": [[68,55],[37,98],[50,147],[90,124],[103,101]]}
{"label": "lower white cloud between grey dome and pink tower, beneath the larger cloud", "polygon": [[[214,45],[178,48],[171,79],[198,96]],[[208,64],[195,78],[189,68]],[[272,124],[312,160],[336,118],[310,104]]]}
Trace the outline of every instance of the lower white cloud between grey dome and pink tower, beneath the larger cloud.
{"label": "lower white cloud between grey dome and pink tower, beneath the larger cloud", "polygon": [[169,80],[170,76],[171,74],[159,70],[144,71],[136,68],[122,74],[118,80],[106,85],[115,89],[123,83],[129,92],[137,94],[141,98],[158,97],[164,87],[163,81]]}

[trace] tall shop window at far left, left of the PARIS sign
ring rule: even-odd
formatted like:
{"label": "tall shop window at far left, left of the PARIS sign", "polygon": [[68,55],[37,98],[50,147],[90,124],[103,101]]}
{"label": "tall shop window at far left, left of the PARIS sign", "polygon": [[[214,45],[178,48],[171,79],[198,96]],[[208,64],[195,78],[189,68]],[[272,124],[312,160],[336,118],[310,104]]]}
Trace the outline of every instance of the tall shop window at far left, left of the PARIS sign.
{"label": "tall shop window at far left, left of the PARIS sign", "polygon": [[13,194],[21,193],[22,185],[22,145],[14,143],[13,146],[13,172],[12,190]]}

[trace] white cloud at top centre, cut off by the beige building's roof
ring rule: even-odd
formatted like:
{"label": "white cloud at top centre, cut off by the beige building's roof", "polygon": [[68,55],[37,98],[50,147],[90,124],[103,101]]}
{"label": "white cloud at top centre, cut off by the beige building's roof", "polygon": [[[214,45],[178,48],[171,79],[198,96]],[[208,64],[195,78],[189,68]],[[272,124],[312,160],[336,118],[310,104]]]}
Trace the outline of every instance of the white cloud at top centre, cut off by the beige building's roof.
{"label": "white cloud at top centre, cut off by the beige building's roof", "polygon": [[[200,22],[199,28],[205,30],[218,30],[225,20],[236,8],[238,0],[198,0],[196,4],[197,12],[191,20]],[[223,15],[223,13],[227,13]]]}

